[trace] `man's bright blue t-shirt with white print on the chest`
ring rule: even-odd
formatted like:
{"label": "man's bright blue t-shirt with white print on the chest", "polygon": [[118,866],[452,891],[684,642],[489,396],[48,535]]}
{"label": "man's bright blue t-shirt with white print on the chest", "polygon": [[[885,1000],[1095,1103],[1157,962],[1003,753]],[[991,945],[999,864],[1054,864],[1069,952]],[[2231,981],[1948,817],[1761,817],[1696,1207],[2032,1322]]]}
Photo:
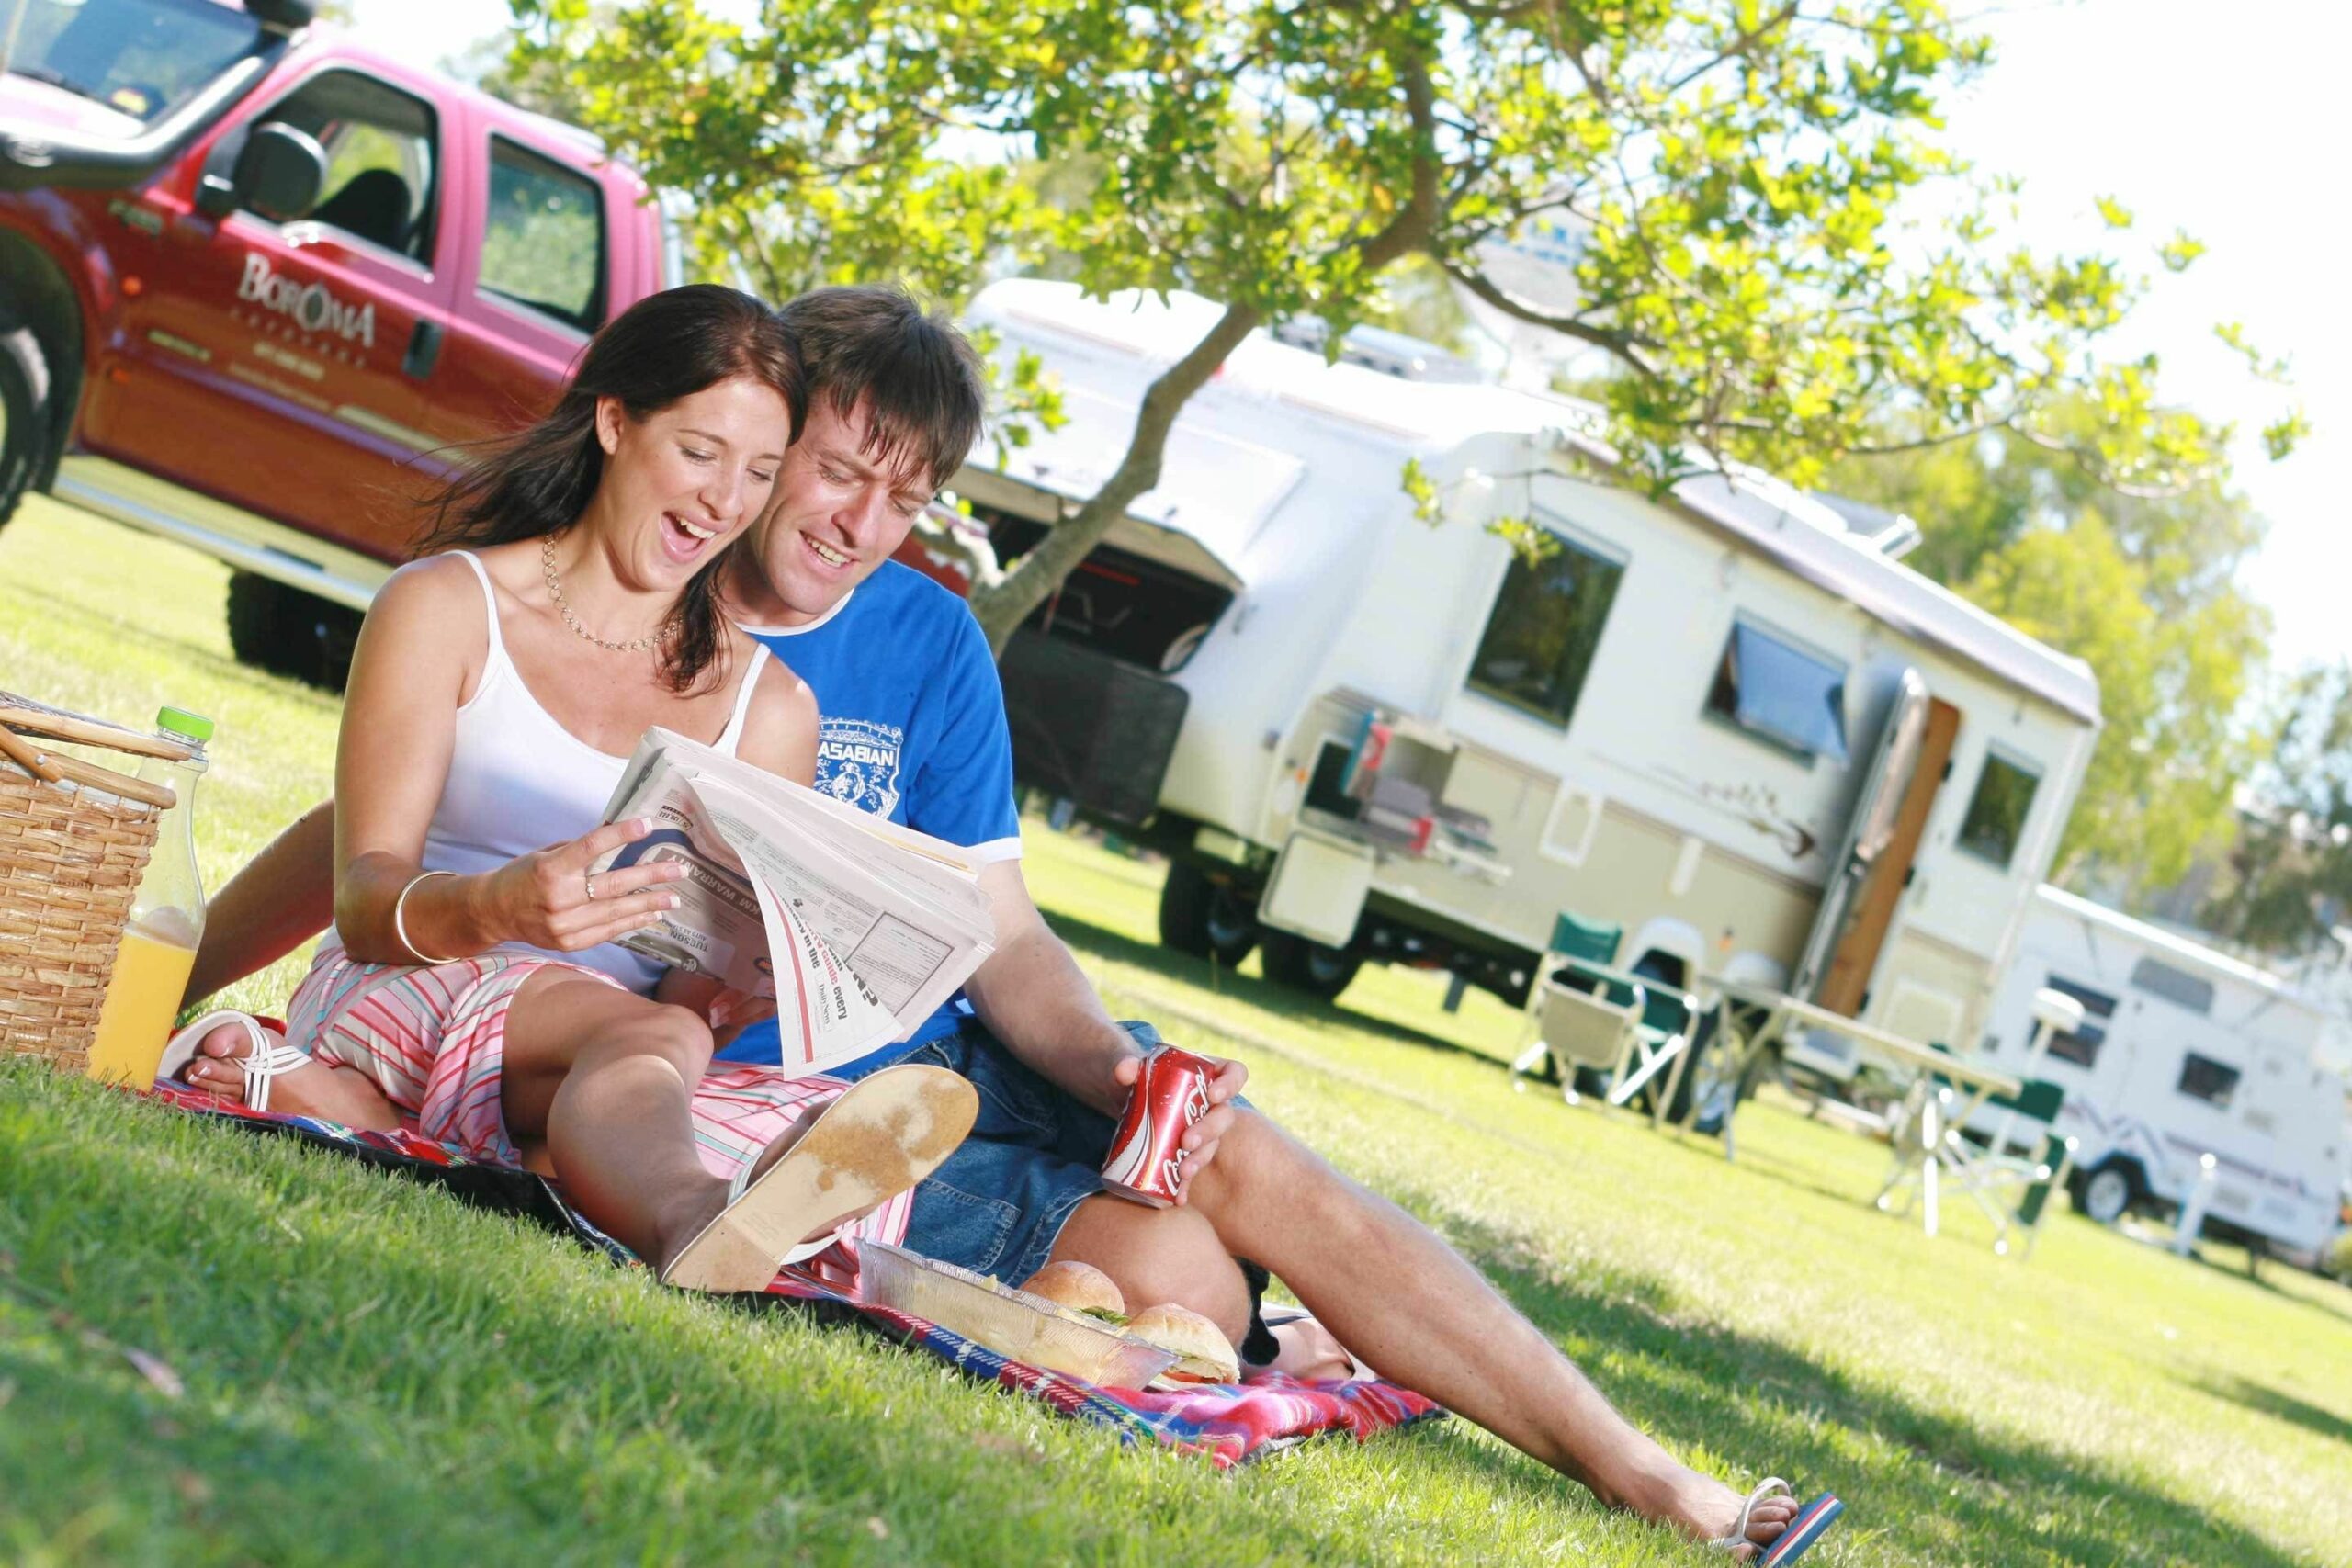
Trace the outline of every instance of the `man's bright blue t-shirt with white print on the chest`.
{"label": "man's bright blue t-shirt with white print on the chest", "polygon": [[[988,637],[953,592],[913,567],[882,567],[823,618],[746,625],[816,693],[816,788],[981,860],[1021,853],[1014,745]],[[962,994],[889,1053],[913,1051],[962,1018]],[[774,1023],[720,1051],[776,1063]]]}

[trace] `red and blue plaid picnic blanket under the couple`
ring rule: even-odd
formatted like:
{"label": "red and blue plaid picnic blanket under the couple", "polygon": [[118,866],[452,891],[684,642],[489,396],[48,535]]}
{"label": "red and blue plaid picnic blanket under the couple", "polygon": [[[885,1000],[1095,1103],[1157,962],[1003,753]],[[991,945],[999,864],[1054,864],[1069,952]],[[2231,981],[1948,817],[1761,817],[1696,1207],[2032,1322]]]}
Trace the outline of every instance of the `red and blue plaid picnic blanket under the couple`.
{"label": "red and blue plaid picnic blanket under the couple", "polygon": [[[282,1133],[329,1147],[376,1168],[447,1187],[454,1197],[520,1213],[576,1237],[614,1262],[642,1267],[626,1246],[600,1232],[562,1201],[555,1182],[463,1154],[412,1128],[365,1133],[313,1117],[282,1117],[219,1100],[205,1091],[160,1084],[151,1098],[186,1112],[221,1117],[254,1131]],[[1148,1389],[1103,1389],[1077,1378],[1023,1366],[906,1312],[858,1302],[847,1291],[849,1272],[823,1267],[833,1253],[814,1260],[818,1272],[788,1269],[769,1286],[769,1298],[797,1309],[854,1321],[901,1345],[924,1349],[957,1371],[1040,1399],[1063,1415],[1110,1427],[1122,1441],[1152,1439],[1185,1453],[1200,1453],[1218,1469],[1230,1469],[1277,1448],[1289,1448],[1324,1432],[1345,1432],[1357,1441],[1378,1436],[1444,1410],[1411,1389],[1376,1378],[1355,1382],[1301,1382],[1284,1373],[1249,1371],[1235,1385],[1200,1385],[1169,1394]]]}

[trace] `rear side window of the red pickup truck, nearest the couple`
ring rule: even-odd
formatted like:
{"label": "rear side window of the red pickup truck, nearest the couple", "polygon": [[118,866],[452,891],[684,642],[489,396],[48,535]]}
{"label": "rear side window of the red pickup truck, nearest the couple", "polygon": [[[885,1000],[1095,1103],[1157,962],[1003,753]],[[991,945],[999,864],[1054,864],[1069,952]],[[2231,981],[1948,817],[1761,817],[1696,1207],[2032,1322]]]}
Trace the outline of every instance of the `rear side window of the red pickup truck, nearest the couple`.
{"label": "rear side window of the red pickup truck, nearest the couple", "polygon": [[489,299],[595,331],[604,324],[604,193],[586,174],[489,139],[482,270]]}

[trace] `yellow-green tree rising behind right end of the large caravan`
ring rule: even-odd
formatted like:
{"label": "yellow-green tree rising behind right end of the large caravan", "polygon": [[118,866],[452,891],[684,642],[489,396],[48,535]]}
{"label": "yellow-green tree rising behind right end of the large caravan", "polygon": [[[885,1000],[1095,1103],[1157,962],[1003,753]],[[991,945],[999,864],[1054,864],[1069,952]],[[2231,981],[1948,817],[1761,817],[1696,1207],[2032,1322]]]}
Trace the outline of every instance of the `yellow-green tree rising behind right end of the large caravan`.
{"label": "yellow-green tree rising behind right end of the large caravan", "polygon": [[2234,830],[2258,752],[2239,715],[2270,618],[2237,585],[2263,536],[2246,498],[2216,477],[2122,494],[2065,449],[2096,423],[2058,407],[2058,449],[2004,430],[1849,458],[1830,487],[1917,520],[1912,567],[2098,675],[2105,729],[2053,875],[2129,896]]}

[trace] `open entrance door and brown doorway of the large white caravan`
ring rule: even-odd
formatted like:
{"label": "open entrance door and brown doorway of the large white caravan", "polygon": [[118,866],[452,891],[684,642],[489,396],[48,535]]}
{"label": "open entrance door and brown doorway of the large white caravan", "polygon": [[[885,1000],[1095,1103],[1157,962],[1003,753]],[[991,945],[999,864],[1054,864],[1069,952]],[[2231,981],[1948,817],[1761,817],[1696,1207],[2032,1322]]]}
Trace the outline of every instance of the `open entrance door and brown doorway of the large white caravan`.
{"label": "open entrance door and brown doorway of the large white caravan", "polygon": [[1804,940],[1790,985],[1797,997],[1849,1018],[1863,1011],[1957,736],[1959,708],[1929,696],[1917,670],[1903,670]]}

